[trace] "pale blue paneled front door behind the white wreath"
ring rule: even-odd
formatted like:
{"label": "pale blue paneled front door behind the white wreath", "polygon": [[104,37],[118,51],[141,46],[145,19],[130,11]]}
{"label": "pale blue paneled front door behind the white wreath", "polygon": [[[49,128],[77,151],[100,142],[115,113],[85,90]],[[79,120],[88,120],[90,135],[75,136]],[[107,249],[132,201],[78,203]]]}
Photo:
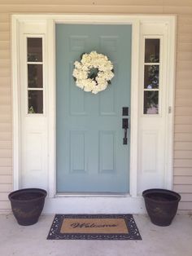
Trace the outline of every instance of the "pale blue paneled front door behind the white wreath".
{"label": "pale blue paneled front door behind the white wreath", "polygon": [[[122,119],[129,118],[123,108],[130,106],[131,38],[131,25],[56,24],[57,192],[129,192]],[[90,51],[114,64],[111,85],[97,95],[72,77],[74,62]]]}

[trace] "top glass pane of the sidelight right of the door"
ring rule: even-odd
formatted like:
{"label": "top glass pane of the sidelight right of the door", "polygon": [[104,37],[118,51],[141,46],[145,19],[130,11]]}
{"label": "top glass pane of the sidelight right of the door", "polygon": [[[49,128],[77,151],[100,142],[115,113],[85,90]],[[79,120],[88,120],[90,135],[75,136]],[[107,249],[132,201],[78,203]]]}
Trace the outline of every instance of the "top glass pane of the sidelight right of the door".
{"label": "top glass pane of the sidelight right of the door", "polygon": [[159,62],[159,44],[160,39],[145,40],[145,62]]}

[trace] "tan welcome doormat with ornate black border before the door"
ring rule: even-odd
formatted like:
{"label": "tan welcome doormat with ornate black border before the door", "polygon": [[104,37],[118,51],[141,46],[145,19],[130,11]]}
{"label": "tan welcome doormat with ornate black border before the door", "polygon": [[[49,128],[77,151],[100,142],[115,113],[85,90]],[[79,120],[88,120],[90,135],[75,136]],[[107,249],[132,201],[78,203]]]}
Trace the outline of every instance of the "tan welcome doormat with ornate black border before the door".
{"label": "tan welcome doormat with ornate black border before the door", "polygon": [[142,240],[132,214],[56,214],[49,240]]}

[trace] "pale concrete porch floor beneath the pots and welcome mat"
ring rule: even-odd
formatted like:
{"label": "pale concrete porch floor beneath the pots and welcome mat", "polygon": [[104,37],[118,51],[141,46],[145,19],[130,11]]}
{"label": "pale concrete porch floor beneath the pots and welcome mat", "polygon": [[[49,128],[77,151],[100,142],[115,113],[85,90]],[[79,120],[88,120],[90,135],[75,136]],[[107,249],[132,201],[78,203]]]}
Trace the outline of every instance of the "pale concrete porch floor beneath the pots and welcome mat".
{"label": "pale concrete porch floor beneath the pots and welcome mat", "polygon": [[192,216],[178,214],[171,226],[158,227],[145,214],[134,214],[142,241],[47,241],[54,215],[22,227],[12,214],[0,215],[2,256],[191,256]]}

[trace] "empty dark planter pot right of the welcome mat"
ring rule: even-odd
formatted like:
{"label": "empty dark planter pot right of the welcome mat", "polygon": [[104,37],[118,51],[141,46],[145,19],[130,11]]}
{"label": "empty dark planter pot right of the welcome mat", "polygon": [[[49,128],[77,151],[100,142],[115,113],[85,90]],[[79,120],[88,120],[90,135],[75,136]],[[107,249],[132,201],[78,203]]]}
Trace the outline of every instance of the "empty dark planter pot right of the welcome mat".
{"label": "empty dark planter pot right of the welcome mat", "polygon": [[181,200],[177,192],[152,188],[142,192],[142,196],[152,223],[158,226],[168,226],[172,223]]}

